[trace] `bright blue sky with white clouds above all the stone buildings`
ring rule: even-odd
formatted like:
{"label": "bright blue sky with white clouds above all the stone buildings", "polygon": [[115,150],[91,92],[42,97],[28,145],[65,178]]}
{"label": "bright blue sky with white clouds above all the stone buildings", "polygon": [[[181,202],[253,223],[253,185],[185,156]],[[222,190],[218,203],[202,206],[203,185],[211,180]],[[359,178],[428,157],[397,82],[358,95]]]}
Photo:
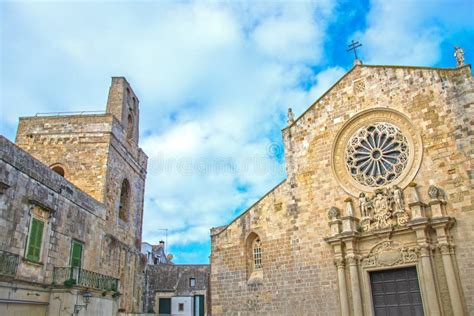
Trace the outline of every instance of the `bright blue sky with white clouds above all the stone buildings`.
{"label": "bright blue sky with white clouds above all the stone buildings", "polygon": [[145,241],[206,263],[209,229],[285,178],[281,128],[352,67],[474,58],[474,2],[3,1],[0,133],[18,117],[103,110],[111,76],[140,98]]}

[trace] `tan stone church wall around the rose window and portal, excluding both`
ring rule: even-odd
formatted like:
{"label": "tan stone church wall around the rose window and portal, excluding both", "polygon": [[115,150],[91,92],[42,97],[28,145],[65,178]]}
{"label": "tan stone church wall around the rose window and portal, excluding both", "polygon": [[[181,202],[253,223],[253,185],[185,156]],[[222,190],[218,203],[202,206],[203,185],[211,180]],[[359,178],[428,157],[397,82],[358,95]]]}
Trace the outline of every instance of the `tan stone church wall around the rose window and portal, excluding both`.
{"label": "tan stone church wall around the rose window and portal, excluding both", "polygon": [[[457,220],[452,233],[462,291],[474,313],[473,102],[469,66],[354,67],[283,130],[287,179],[227,227],[211,231],[213,315],[341,312],[334,256],[324,237],[331,234],[328,209],[345,209],[350,194],[332,171],[333,146],[344,123],[373,108],[406,115],[421,134],[423,158],[413,181],[422,200],[429,200],[430,185],[446,192],[447,213]],[[263,281],[257,284],[248,284],[251,233],[262,241]]]}

